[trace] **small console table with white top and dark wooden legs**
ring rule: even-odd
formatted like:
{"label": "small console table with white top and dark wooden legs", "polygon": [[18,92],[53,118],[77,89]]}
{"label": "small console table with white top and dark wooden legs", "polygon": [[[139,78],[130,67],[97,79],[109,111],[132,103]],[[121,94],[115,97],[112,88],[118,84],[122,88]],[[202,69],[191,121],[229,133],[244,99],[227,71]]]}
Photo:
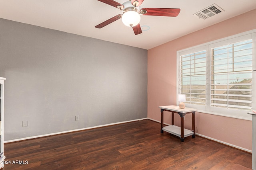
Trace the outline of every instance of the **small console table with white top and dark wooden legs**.
{"label": "small console table with white top and dark wooden legs", "polygon": [[[161,109],[161,133],[164,131],[171,133],[180,137],[180,141],[184,142],[184,138],[192,135],[195,137],[195,116],[197,109],[185,107],[184,109],[180,109],[179,106],[159,106]],[[164,111],[172,112],[172,125],[164,127]],[[178,113],[180,115],[180,127],[174,125],[174,113]],[[192,131],[188,129],[184,129],[184,117],[186,114],[192,113]]]}

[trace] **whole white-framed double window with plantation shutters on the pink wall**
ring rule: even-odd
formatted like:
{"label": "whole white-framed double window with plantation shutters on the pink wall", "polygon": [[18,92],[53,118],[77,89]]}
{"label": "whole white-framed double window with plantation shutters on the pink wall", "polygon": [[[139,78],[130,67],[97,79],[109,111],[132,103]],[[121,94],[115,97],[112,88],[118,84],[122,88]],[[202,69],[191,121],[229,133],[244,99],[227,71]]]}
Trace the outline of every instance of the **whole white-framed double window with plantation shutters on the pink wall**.
{"label": "whole white-framed double window with plantation shutters on the pink wall", "polygon": [[187,107],[251,119],[247,113],[256,109],[255,37],[254,30],[177,52],[177,95],[186,94]]}

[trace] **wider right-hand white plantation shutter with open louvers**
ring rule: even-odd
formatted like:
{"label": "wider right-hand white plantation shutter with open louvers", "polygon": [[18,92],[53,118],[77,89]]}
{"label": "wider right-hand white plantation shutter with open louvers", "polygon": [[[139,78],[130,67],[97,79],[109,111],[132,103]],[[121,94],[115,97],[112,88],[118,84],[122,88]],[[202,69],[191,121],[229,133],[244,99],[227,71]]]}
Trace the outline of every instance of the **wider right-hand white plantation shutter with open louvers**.
{"label": "wider right-hand white plantation shutter with open louvers", "polygon": [[252,39],[211,49],[212,107],[252,109]]}

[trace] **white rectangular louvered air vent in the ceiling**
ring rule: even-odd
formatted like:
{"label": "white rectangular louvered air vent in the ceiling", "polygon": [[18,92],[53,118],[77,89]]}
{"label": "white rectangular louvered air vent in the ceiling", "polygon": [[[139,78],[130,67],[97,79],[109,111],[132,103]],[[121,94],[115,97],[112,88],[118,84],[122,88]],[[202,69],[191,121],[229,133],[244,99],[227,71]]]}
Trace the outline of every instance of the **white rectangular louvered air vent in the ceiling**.
{"label": "white rectangular louvered air vent in the ceiling", "polygon": [[206,20],[212,16],[215,16],[216,14],[219,14],[220,12],[224,12],[224,10],[216,4],[212,4],[211,6],[196,12],[194,16],[198,16],[199,18]]}

